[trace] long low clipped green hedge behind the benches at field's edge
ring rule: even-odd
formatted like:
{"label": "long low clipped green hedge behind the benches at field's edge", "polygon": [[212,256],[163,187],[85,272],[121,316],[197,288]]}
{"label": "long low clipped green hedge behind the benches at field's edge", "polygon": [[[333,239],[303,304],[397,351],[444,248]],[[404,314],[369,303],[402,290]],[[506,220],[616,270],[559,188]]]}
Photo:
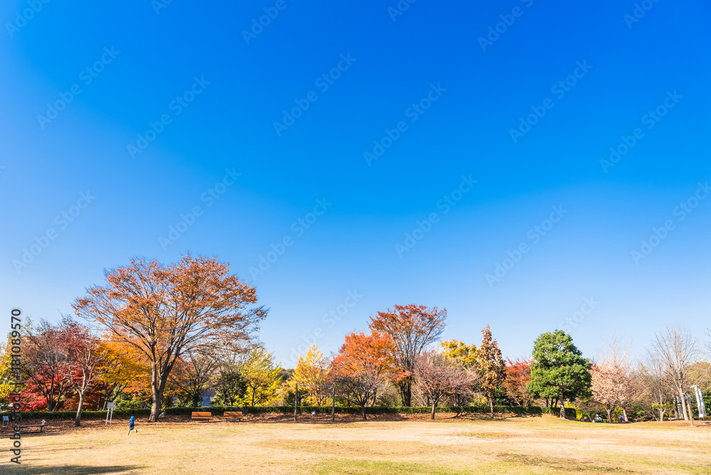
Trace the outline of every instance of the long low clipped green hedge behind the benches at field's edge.
{"label": "long low clipped green hedge behind the benches at field's edge", "polygon": [[[224,415],[225,411],[242,411],[245,414],[294,414],[294,406],[257,406],[257,407],[169,407],[166,415],[191,415],[192,412],[211,412],[213,415]],[[459,407],[437,407],[437,412],[441,414],[449,413],[469,413],[488,414],[488,406],[459,406]],[[499,414],[523,414],[523,415],[558,415],[560,410],[550,407],[521,407],[521,406],[494,406],[493,411]],[[331,414],[331,406],[299,406],[299,413],[305,414],[316,412],[316,414]],[[429,414],[432,407],[366,407],[367,414]],[[0,415],[11,415],[11,412],[0,412]],[[76,411],[31,411],[21,412],[23,419],[63,419],[74,420]],[[360,407],[336,407],[336,414],[360,414]],[[117,409],[114,410],[113,417],[145,416],[151,415],[150,409]],[[574,419],[577,415],[574,407],[566,407],[565,415]],[[105,419],[106,411],[82,411],[82,419]]]}

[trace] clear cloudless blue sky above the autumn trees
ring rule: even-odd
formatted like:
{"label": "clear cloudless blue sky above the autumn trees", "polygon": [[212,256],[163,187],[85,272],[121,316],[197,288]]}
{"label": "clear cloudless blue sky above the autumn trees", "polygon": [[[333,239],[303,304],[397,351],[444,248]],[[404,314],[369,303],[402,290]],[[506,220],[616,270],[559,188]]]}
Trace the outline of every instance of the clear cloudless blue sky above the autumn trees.
{"label": "clear cloudless blue sky above the autumn trees", "polygon": [[[257,286],[286,366],[315,329],[330,353],[393,304],[447,307],[468,343],[490,323],[512,357],[581,310],[586,356],[609,331],[639,353],[709,325],[707,2],[238,3],[0,7],[0,331],[14,306],[56,319],[104,268],[187,251]],[[610,147],[626,154],[601,164]]]}

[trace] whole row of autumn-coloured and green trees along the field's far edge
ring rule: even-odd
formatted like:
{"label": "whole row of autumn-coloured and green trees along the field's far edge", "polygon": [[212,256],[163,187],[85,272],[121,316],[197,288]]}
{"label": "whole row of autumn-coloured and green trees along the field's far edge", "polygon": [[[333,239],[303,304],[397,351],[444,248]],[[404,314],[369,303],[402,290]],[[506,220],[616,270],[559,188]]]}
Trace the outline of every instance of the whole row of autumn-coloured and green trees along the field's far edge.
{"label": "whole row of autumn-coloured and green trees along the field's far edge", "polygon": [[[656,334],[641,361],[614,336],[594,361],[570,335],[543,333],[531,357],[504,361],[487,325],[477,347],[439,342],[447,310],[395,305],[370,317],[368,331],[345,336],[326,358],[312,345],[284,369],[257,340],[267,309],[256,289],[214,258],[184,256],[161,265],[132,260],[105,272],[58,324],[26,321],[22,368],[26,410],[100,410],[150,405],[151,422],[173,405],[197,407],[214,394],[222,406],[331,405],[332,393],[296,385],[336,383],[336,405],[495,405],[576,407],[612,422],[663,420],[672,413],[693,424],[686,395],[698,385],[711,399],[711,365],[702,343],[680,326]],[[10,340],[8,341],[8,343]],[[437,343],[439,342],[439,346]],[[433,349],[436,348],[436,349]],[[8,404],[11,356],[0,348],[0,404]],[[707,400],[707,404],[711,400]],[[630,414],[631,412],[631,414]]]}

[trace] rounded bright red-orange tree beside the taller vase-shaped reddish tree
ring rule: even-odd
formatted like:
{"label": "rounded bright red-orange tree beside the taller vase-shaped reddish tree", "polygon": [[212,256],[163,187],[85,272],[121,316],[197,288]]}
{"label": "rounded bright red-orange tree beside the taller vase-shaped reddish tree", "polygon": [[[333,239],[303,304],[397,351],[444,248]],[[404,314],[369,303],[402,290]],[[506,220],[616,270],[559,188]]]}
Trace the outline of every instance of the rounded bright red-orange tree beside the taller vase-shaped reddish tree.
{"label": "rounded bright red-orange tree beside the taller vase-shaped reddish tree", "polygon": [[338,395],[360,406],[363,420],[365,407],[375,403],[375,397],[385,380],[400,373],[393,353],[392,338],[378,331],[370,335],[351,333],[346,343],[333,357],[331,378],[336,383]]}

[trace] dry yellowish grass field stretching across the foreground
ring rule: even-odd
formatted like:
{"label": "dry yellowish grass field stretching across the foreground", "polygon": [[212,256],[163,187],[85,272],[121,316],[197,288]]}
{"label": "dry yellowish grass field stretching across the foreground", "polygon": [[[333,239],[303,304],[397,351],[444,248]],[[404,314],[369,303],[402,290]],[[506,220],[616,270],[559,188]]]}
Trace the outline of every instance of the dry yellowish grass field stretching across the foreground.
{"label": "dry yellowish grass field stretching across the foreground", "polygon": [[9,463],[5,430],[0,474],[711,474],[711,425],[302,419],[139,421],[130,436],[126,421],[57,421],[23,437],[21,466]]}

